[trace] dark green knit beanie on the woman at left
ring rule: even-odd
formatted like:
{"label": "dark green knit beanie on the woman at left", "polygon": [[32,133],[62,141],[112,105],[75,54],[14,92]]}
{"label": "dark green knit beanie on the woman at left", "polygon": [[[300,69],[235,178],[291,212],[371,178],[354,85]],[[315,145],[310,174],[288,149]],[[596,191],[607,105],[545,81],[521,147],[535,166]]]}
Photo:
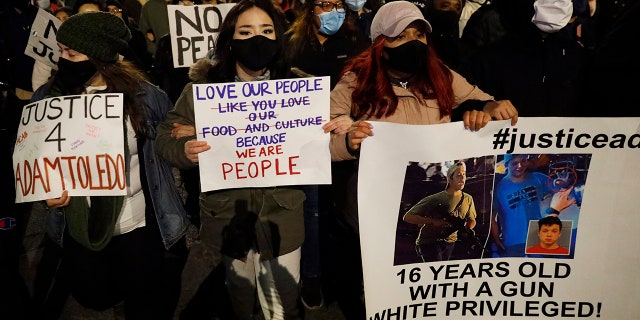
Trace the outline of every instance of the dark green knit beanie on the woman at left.
{"label": "dark green knit beanie on the woman at left", "polygon": [[61,44],[105,62],[118,60],[118,52],[129,45],[131,32],[124,21],[107,12],[76,13],[60,25],[56,40]]}

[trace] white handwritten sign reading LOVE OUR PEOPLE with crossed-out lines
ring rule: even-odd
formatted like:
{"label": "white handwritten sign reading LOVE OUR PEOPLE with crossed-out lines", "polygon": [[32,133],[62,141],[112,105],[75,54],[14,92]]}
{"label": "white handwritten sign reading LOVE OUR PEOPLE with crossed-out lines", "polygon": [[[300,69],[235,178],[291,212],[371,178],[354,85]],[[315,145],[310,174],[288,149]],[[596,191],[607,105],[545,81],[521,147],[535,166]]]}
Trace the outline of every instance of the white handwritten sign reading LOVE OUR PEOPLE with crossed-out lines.
{"label": "white handwritten sign reading LOVE OUR PEOPLE with crossed-out lines", "polygon": [[197,84],[202,191],[331,183],[329,77]]}

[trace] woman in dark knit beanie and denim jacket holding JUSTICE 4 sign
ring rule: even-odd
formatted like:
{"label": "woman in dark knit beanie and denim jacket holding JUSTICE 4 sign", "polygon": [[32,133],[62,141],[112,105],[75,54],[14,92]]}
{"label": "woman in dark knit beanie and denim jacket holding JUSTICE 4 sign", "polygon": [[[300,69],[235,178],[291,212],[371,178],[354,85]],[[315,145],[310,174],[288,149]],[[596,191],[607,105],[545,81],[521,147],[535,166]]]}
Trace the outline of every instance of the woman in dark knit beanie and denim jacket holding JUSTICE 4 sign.
{"label": "woman in dark knit beanie and denim jacket holding JUSTICE 4 sign", "polygon": [[[65,130],[59,129],[55,137],[63,143],[89,141],[87,128],[94,127],[94,119],[121,118],[126,163],[124,196],[69,196],[64,191],[60,198],[46,200],[47,232],[62,247],[54,287],[41,288],[49,299],[42,302],[47,311],[62,310],[51,301],[64,303],[70,292],[82,306],[95,310],[123,303],[127,319],[171,319],[174,313],[189,221],[171,167],[156,155],[153,144],[155,126],[172,103],[142,71],[122,60],[120,53],[130,38],[124,21],[113,14],[71,16],[56,35],[61,49],[58,71],[32,99],[75,98],[75,104],[58,109],[68,117],[85,117],[86,128],[69,130],[60,122]],[[97,97],[87,94],[115,93],[123,94],[120,115],[101,114],[93,104],[82,103]],[[98,140],[101,143],[112,139],[112,133],[97,131],[107,135]],[[113,173],[105,175],[114,178]]]}

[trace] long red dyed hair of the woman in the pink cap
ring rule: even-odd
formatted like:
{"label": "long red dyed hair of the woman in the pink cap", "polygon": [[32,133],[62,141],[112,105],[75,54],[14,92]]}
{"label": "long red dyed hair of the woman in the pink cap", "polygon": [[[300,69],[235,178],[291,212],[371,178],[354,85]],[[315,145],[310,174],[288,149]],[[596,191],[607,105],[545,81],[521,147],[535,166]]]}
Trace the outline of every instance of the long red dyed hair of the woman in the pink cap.
{"label": "long red dyed hair of the woman in the pink cap", "polygon": [[[398,96],[393,92],[382,59],[385,39],[385,36],[378,37],[369,49],[354,57],[343,71],[343,74],[352,71],[358,76],[351,95],[351,116],[355,119],[382,118],[392,115],[398,107]],[[425,59],[426,67],[418,70],[409,88],[419,99],[437,99],[442,118],[450,115],[453,108],[453,76],[432,46],[428,46]]]}

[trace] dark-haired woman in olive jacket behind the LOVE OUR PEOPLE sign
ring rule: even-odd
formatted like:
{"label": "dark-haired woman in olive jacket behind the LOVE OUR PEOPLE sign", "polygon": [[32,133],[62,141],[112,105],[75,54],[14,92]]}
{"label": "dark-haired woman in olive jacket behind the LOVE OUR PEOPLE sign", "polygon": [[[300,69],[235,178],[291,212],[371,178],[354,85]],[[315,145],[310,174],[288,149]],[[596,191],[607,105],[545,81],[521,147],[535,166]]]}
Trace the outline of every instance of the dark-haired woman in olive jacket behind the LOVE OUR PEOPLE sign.
{"label": "dark-haired woman in olive jacket behind the LOVE OUR PEOPLE sign", "polygon": [[[180,169],[195,168],[198,154],[215,148],[196,140],[194,132],[189,136],[178,132],[195,127],[194,83],[287,76],[288,66],[281,60],[284,31],[284,17],[270,0],[242,0],[229,11],[220,27],[214,60],[203,59],[191,67],[193,82],[158,126],[156,145],[162,157]],[[191,248],[185,278],[201,282],[222,261],[237,319],[253,319],[257,304],[266,319],[298,318],[304,200],[304,192],[292,186],[201,193],[201,241]],[[207,270],[198,273],[202,270],[198,264],[203,263]],[[183,291],[186,298],[181,300],[192,294]]]}

